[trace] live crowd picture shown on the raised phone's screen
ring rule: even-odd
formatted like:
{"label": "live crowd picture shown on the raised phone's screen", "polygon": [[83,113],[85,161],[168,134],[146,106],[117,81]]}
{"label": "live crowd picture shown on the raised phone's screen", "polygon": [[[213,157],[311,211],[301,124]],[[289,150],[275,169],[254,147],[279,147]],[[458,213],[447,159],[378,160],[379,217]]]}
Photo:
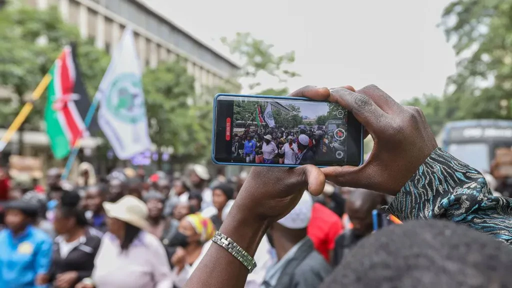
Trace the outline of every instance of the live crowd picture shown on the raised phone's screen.
{"label": "live crowd picture shown on the raised phone's screen", "polygon": [[346,163],[347,110],[337,104],[240,98],[230,130],[233,162]]}

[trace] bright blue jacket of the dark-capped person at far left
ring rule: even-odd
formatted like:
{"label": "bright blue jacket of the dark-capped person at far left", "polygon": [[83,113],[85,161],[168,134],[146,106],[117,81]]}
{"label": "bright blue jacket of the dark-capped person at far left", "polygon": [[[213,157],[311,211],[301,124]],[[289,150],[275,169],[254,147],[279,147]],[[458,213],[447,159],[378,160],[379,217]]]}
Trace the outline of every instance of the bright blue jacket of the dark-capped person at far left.
{"label": "bright blue jacket of the dark-capped person at far left", "polygon": [[50,270],[52,239],[32,226],[18,236],[0,231],[0,287],[36,288],[36,276]]}

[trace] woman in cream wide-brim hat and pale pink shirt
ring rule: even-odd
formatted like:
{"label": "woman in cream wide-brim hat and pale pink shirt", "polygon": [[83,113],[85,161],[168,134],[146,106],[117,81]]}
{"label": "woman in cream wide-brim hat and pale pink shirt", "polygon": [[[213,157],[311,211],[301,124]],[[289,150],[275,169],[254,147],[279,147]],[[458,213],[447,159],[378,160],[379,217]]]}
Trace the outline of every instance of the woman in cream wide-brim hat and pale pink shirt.
{"label": "woman in cream wide-brim hat and pale pink shirt", "polygon": [[91,278],[76,288],[168,288],[173,286],[169,260],[160,240],[145,232],[148,210],[127,195],[104,202],[109,232],[101,239]]}

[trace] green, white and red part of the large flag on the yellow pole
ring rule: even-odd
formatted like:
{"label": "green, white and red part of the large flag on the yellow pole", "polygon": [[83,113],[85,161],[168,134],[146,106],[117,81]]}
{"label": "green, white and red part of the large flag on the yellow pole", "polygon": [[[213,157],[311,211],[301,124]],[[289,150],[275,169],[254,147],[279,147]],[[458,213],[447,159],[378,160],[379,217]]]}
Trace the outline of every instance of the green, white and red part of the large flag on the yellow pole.
{"label": "green, white and red part of the large flag on the yellow pole", "polygon": [[[46,132],[53,155],[57,159],[68,156],[82,136],[89,136],[83,119],[91,101],[80,79],[74,54],[73,48],[66,46],[49,72],[52,80],[47,88]],[[93,119],[90,127],[96,128],[98,124]]]}

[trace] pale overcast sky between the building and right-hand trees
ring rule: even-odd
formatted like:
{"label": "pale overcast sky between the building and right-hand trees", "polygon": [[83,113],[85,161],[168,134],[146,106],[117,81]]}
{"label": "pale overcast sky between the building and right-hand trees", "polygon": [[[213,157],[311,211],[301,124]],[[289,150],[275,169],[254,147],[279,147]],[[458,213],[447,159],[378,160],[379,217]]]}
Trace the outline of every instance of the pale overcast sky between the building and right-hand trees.
{"label": "pale overcast sky between the building and right-hand trees", "polygon": [[[401,101],[440,95],[455,72],[455,56],[440,22],[449,0],[145,0],[222,52],[218,39],[251,32],[296,52],[289,81],[304,85],[361,88],[376,84]],[[264,86],[277,87],[263,78]]]}

